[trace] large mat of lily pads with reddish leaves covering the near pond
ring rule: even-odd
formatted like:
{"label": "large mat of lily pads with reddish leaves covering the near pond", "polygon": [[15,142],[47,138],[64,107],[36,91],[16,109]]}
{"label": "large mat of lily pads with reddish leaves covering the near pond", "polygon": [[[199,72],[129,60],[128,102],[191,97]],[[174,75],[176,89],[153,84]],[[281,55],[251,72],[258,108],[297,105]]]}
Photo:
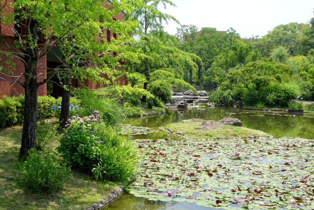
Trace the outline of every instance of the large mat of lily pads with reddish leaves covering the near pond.
{"label": "large mat of lily pads with reddish leaves covering the near pond", "polygon": [[220,209],[314,209],[314,140],[136,140],[131,194]]}

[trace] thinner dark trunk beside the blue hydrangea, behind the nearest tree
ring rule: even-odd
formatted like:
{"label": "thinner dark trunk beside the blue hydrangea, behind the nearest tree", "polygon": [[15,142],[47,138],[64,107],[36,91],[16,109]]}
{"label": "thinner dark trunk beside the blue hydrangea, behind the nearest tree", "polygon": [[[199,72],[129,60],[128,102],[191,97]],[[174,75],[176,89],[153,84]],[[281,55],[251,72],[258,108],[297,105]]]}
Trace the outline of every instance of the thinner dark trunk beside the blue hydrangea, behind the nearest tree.
{"label": "thinner dark trunk beside the blue hydrangea, behind the nearest tree", "polygon": [[70,78],[63,78],[63,85],[66,88],[63,88],[62,91],[62,102],[61,102],[61,113],[59,119],[59,129],[63,129],[67,124],[67,120],[69,119],[69,106],[70,106]]}

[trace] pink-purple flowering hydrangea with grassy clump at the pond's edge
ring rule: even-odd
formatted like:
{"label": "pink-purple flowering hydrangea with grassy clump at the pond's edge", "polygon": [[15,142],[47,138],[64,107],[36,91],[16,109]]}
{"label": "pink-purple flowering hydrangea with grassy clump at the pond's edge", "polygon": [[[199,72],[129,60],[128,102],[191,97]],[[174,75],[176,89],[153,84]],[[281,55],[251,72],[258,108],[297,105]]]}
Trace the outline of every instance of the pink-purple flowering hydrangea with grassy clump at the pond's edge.
{"label": "pink-purple flowering hydrangea with grassy clump at the pond's edge", "polygon": [[90,116],[72,116],[57,150],[72,167],[96,180],[128,181],[135,172],[136,152],[131,142],[107,126],[97,110]]}

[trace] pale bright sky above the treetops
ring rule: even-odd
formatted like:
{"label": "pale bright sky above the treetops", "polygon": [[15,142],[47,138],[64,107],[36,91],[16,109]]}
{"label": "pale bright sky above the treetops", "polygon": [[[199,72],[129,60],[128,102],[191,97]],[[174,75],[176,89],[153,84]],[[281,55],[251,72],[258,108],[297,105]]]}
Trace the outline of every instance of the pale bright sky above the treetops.
{"label": "pale bright sky above the treetops", "polygon": [[[242,38],[263,36],[280,24],[309,23],[314,17],[314,0],[172,0],[177,7],[159,8],[176,17],[182,25],[228,30]],[[175,35],[177,23],[164,24]]]}

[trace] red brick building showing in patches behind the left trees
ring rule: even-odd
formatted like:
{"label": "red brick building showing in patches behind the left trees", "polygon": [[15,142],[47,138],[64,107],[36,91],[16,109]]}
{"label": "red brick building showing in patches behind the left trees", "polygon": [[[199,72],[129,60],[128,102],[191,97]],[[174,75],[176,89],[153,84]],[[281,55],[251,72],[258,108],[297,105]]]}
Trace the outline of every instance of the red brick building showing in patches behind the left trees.
{"label": "red brick building showing in patches behind the left trees", "polygon": [[[11,3],[13,2],[14,0],[7,0],[7,3],[2,12],[6,14],[13,13],[14,9],[11,7]],[[5,1],[2,0],[0,6],[2,7],[4,3]],[[123,20],[124,16],[125,16],[124,13],[120,13],[117,16],[113,17],[113,19]],[[17,26],[14,25],[13,23],[11,23],[11,25],[5,25],[2,23],[0,24],[0,34],[11,46],[13,46],[14,40],[17,39],[14,31],[12,30],[12,28],[14,29],[14,27],[17,30],[22,30],[21,32],[23,33],[23,28],[17,28]],[[118,38],[118,34],[113,33],[112,30],[104,30],[104,35],[108,41],[111,40],[111,37]],[[99,34],[99,37],[96,38],[100,39],[101,38],[100,36],[101,34]],[[44,44],[46,41],[44,40],[44,36],[40,32],[37,34],[37,38],[39,44]],[[2,41],[0,41],[0,51],[9,52],[9,49],[5,46],[5,44]],[[55,51],[58,52],[58,49],[56,48]],[[123,62],[123,60],[121,62]],[[40,82],[46,79],[47,67],[53,68],[57,65],[58,65],[57,59],[55,58],[55,55],[53,55],[52,53],[47,53],[47,55],[43,56],[38,62],[37,74],[39,76],[37,78],[37,81]],[[15,82],[16,78],[18,78],[24,73],[25,69],[23,63],[17,58],[9,59],[6,55],[2,53],[0,54],[0,68],[1,67],[11,69],[14,73],[15,78],[0,73],[0,99],[3,97],[3,95],[15,96],[24,94],[24,88],[17,82]],[[103,76],[106,77],[105,75]],[[19,81],[24,82],[24,78],[21,77]],[[62,93],[62,88],[58,86],[58,83],[59,80],[57,78],[53,78],[52,82],[44,84],[38,88],[38,95],[50,94],[54,97],[60,96]],[[127,85],[128,82],[126,77],[122,77],[118,79],[117,83],[118,85]],[[78,81],[75,80],[72,81],[72,84],[74,87],[80,86],[80,84],[78,84]],[[95,84],[89,80],[86,80],[84,85],[89,87],[90,89],[104,87],[103,84]]]}

